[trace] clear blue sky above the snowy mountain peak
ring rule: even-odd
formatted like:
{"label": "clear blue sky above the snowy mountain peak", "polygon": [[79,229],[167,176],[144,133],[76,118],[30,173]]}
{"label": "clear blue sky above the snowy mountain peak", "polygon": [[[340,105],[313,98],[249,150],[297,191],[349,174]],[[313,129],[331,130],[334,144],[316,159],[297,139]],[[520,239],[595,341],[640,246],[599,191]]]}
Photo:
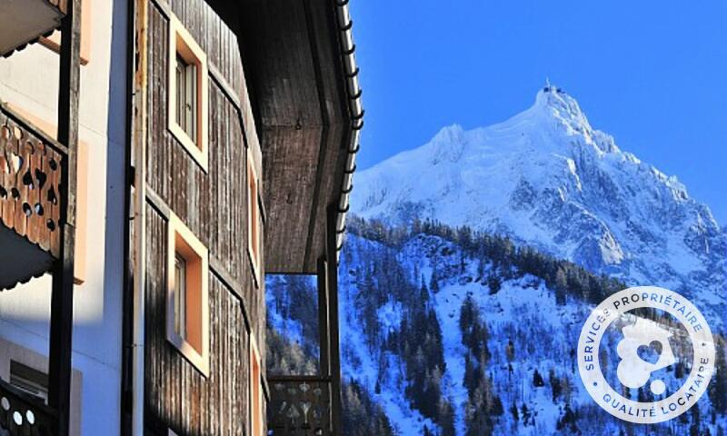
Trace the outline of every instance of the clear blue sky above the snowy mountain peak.
{"label": "clear blue sky above the snowy mountain peak", "polygon": [[354,0],[359,168],[503,121],[550,77],[727,223],[727,2]]}

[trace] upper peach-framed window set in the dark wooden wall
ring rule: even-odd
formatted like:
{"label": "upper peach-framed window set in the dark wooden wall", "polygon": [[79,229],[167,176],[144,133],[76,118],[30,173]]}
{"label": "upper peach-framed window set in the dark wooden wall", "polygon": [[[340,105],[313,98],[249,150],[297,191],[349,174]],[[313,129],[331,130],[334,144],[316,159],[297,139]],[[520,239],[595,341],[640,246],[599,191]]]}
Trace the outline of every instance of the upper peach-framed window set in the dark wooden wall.
{"label": "upper peach-framed window set in the dark wooden wall", "polygon": [[207,171],[207,56],[179,20],[169,20],[169,131]]}

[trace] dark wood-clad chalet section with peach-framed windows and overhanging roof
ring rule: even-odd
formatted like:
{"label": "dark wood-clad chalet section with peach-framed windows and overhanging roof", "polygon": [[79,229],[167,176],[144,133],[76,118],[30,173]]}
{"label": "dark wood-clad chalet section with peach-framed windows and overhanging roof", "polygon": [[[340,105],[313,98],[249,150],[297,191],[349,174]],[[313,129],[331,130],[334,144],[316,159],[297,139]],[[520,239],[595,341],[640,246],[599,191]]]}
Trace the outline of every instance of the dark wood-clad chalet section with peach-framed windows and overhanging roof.
{"label": "dark wood-clad chalet section with peach-framed windows and overhanging roof", "polygon": [[[126,430],[342,434],[337,253],[363,125],[348,6],[136,6]],[[266,376],[271,272],[318,276],[319,375]]]}

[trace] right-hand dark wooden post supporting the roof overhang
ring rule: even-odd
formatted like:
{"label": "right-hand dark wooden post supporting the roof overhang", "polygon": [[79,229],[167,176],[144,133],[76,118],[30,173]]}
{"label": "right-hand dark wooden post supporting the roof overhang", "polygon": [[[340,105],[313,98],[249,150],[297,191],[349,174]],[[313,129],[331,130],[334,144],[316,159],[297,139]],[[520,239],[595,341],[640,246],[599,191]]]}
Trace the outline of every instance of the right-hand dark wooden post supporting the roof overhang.
{"label": "right-hand dark wooden post supporting the roof overhang", "polygon": [[334,434],[343,434],[341,413],[341,346],[338,323],[338,261],[336,247],[335,220],[338,210],[329,205],[325,223],[325,255],[328,277],[328,323],[330,326],[331,347],[331,410]]}

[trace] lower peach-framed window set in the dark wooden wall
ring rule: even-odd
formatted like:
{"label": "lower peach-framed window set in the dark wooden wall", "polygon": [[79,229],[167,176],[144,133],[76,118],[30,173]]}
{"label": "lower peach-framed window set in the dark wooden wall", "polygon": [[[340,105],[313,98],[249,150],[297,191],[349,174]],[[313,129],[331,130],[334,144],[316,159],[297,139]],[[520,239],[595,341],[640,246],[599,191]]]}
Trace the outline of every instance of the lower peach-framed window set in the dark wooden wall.
{"label": "lower peach-framed window set in the dark wooden wall", "polygon": [[204,376],[209,375],[208,253],[176,216],[169,218],[166,336]]}

